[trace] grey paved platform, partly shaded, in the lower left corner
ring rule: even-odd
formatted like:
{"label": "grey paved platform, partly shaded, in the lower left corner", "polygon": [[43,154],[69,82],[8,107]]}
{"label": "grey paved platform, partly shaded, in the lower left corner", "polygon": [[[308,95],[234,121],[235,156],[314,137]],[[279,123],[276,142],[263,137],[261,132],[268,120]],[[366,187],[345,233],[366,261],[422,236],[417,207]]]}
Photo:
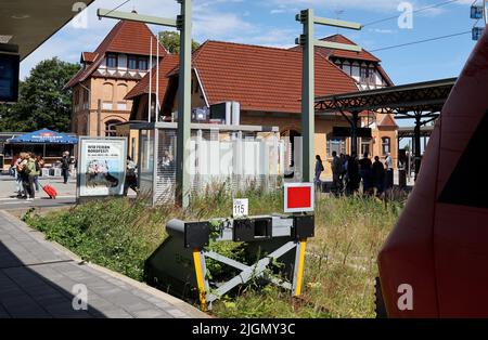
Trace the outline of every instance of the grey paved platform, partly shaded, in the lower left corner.
{"label": "grey paved platform, partly shaded, in the lower left corner", "polygon": [[[86,291],[75,289],[80,287],[77,285],[84,285]],[[86,309],[81,299],[85,292]],[[0,318],[9,317],[188,318],[208,315],[147,285],[81,261],[0,210]]]}

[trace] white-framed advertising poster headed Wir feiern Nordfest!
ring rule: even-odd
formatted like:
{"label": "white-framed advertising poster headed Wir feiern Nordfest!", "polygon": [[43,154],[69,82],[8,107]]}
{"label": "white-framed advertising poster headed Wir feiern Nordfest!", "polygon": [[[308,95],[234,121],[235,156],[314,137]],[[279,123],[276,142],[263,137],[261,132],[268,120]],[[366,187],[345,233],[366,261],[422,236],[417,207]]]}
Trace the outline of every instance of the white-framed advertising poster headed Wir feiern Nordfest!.
{"label": "white-framed advertising poster headed Wir feiern Nordfest!", "polygon": [[124,194],[126,138],[80,138],[79,197]]}

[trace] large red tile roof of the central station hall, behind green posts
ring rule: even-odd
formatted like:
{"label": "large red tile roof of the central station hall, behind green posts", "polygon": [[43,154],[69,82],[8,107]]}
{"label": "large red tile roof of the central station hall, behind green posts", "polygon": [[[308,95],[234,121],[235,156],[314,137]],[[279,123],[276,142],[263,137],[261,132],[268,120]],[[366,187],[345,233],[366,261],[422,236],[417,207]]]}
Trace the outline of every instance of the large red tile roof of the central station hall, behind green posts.
{"label": "large red tile roof of the central station hall, behind green posts", "polygon": [[[163,61],[164,64],[164,61]],[[206,41],[193,53],[208,104],[237,101],[246,110],[299,113],[301,52],[277,48]],[[168,76],[175,76],[177,69]],[[149,80],[140,94],[149,92]],[[159,88],[166,79],[160,77]],[[142,86],[141,86],[142,87]],[[352,78],[316,53],[316,95],[357,91]],[[142,92],[141,92],[142,91]],[[134,97],[132,93],[131,97]]]}

